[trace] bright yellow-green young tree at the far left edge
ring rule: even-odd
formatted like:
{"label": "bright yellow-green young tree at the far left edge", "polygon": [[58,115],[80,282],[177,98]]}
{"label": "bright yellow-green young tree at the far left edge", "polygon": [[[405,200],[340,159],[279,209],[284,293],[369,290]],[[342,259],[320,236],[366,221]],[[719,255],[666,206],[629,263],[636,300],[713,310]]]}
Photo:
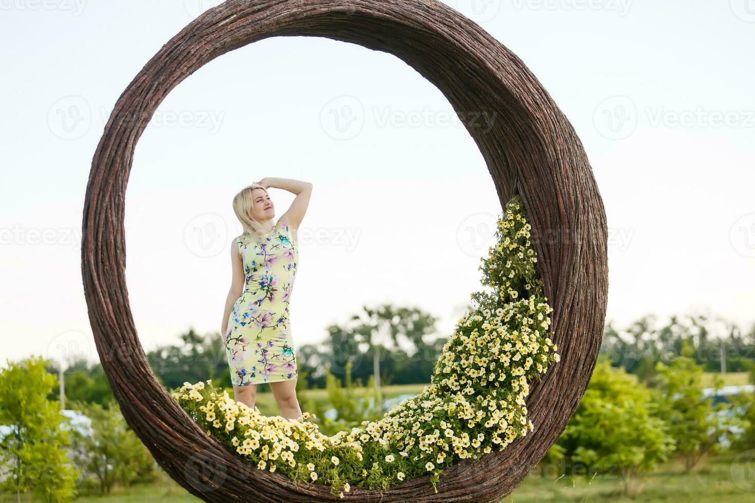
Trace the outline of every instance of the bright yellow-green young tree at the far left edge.
{"label": "bright yellow-green young tree at the far left edge", "polygon": [[48,373],[48,361],[32,356],[20,362],[6,360],[0,370],[0,424],[10,431],[0,440],[0,465],[7,477],[0,483],[15,492],[16,500],[29,490],[45,501],[72,501],[75,469],[66,457],[68,432],[60,403],[48,400],[57,388],[57,376]]}

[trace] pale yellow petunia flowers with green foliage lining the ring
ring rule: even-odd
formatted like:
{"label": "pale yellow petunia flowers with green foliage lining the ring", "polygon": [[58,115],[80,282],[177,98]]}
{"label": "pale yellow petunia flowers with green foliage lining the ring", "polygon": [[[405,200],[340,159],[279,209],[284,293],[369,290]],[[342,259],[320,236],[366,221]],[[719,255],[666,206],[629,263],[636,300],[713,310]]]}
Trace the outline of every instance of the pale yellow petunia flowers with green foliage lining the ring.
{"label": "pale yellow petunia flowers with green foliage lining the ring", "polygon": [[262,416],[227,391],[186,382],[172,393],[192,418],[260,470],[331,486],[387,489],[402,480],[439,474],[460,459],[502,450],[533,430],[525,397],[529,381],[559,361],[547,336],[553,311],[543,296],[519,196],[498,219],[496,244],[481,258],[482,285],[443,347],[430,385],[382,419],[332,437],[313,416]]}

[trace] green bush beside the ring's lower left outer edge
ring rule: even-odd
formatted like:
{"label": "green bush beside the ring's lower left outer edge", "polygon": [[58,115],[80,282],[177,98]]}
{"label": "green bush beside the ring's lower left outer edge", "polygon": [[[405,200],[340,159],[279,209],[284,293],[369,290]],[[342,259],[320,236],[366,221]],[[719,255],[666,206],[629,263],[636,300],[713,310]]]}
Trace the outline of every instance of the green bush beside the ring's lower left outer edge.
{"label": "green bush beside the ring's lower left outer edge", "polygon": [[91,424],[88,431],[72,432],[73,462],[84,477],[97,480],[100,494],[109,493],[114,483],[130,486],[155,480],[155,460],[128,427],[118,403],[113,401],[107,408],[99,403],[77,403],[75,408]]}

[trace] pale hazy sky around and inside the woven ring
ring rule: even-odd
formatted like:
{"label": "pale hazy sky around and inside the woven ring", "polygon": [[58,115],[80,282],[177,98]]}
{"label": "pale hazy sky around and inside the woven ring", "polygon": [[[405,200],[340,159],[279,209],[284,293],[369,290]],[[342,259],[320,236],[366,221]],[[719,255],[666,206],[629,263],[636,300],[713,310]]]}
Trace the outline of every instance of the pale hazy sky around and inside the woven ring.
{"label": "pale hazy sky around and inside the woven ring", "polygon": [[[755,316],[752,0],[456,2],[529,66],[584,143],[609,223],[608,319]],[[81,278],[83,198],[113,104],[212,2],[0,2],[0,330],[5,359],[97,360]],[[751,14],[750,14],[751,13]],[[231,198],[313,182],[294,345],[362,305],[418,306],[448,336],[501,212],[448,100],[396,57],[269,38],[178,85],[126,194],[131,308],[149,351],[220,330]],[[293,196],[270,189],[280,216]]]}

